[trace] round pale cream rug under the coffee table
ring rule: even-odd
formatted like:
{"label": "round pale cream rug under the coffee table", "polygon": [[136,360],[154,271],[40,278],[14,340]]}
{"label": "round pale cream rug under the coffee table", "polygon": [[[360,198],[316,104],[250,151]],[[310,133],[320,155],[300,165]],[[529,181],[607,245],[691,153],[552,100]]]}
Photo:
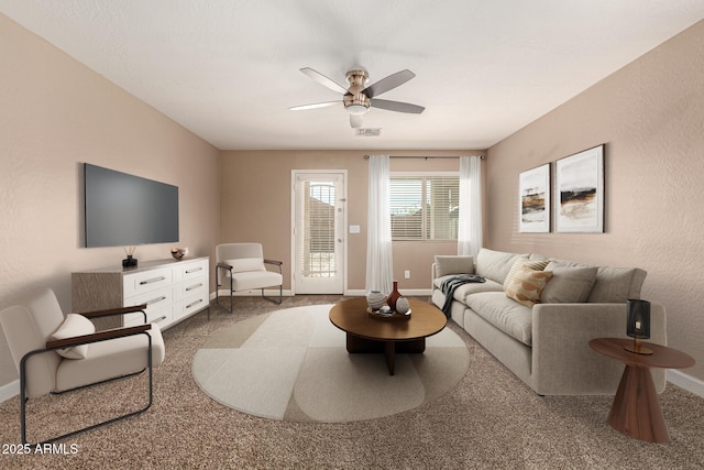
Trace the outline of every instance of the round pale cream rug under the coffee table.
{"label": "round pale cream rug under the coffee table", "polygon": [[415,408],[454,387],[469,351],[450,329],[422,354],[396,354],[389,375],[381,353],[350,354],[328,318],[332,305],[287,308],[224,328],[196,352],[193,375],[212,398],[280,420],[350,422]]}

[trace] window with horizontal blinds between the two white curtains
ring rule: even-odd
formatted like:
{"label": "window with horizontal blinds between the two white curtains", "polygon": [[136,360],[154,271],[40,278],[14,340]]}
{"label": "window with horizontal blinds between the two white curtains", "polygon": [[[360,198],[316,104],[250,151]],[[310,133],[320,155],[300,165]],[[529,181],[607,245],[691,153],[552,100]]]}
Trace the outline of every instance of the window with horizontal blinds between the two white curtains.
{"label": "window with horizontal blinds between the two white curtains", "polygon": [[392,174],[393,240],[457,240],[460,177],[457,174]]}

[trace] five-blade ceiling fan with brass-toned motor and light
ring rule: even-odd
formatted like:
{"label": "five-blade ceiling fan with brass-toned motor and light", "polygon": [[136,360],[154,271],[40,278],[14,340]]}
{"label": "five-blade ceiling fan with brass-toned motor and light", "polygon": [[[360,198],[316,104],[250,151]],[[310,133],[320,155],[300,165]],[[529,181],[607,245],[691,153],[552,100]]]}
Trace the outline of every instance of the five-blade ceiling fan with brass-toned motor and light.
{"label": "five-blade ceiling fan with brass-toned motor and light", "polygon": [[400,70],[389,75],[386,78],[382,78],[373,85],[366,87],[369,81],[369,74],[366,70],[354,69],[346,73],[346,81],[350,85],[349,88],[344,88],[342,85],[331,80],[319,72],[312,68],[305,67],[300,72],[330,88],[332,91],[342,94],[342,101],[324,101],[316,102],[311,105],[294,106],[292,111],[301,111],[306,109],[324,108],[328,106],[334,106],[340,102],[344,105],[344,109],[350,114],[350,125],[352,128],[362,127],[362,117],[370,110],[370,107],[386,109],[388,111],[409,112],[414,114],[420,114],[426,108],[418,105],[411,105],[408,102],[389,101],[387,99],[376,98],[383,92],[392,90],[398,86],[404,85],[416,76],[410,70]]}

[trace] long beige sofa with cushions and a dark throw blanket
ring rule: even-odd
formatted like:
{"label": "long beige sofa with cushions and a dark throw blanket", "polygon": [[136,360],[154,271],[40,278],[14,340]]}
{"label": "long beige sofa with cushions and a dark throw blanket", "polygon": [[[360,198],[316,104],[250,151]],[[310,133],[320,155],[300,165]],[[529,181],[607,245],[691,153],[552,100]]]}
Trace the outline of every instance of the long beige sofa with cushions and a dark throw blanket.
{"label": "long beige sofa with cushions and a dark throw blanket", "polygon": [[[624,364],[594,352],[588,341],[627,338],[626,300],[640,298],[644,270],[590,266],[535,253],[487,249],[482,249],[476,260],[438,255],[435,261],[432,302],[439,308],[446,304],[443,282],[461,274],[485,280],[458,286],[448,315],[536,393],[616,392]],[[543,285],[534,289],[530,280]],[[536,294],[540,297],[535,298]],[[525,298],[531,295],[538,303]],[[651,304],[650,315],[649,341],[666,345],[663,306]],[[661,393],[664,371],[651,372]]]}

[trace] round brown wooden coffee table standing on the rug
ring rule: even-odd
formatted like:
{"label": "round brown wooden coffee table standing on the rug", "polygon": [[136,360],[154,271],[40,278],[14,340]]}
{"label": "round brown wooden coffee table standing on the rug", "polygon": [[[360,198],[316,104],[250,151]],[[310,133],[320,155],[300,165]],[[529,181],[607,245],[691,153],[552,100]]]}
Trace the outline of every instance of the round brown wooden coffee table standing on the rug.
{"label": "round brown wooden coffee table standing on the rug", "polygon": [[388,373],[394,375],[396,352],[424,352],[426,338],[440,332],[448,319],[435,305],[408,299],[409,319],[373,318],[366,298],[342,300],[330,309],[330,321],[346,332],[348,352],[384,352]]}

